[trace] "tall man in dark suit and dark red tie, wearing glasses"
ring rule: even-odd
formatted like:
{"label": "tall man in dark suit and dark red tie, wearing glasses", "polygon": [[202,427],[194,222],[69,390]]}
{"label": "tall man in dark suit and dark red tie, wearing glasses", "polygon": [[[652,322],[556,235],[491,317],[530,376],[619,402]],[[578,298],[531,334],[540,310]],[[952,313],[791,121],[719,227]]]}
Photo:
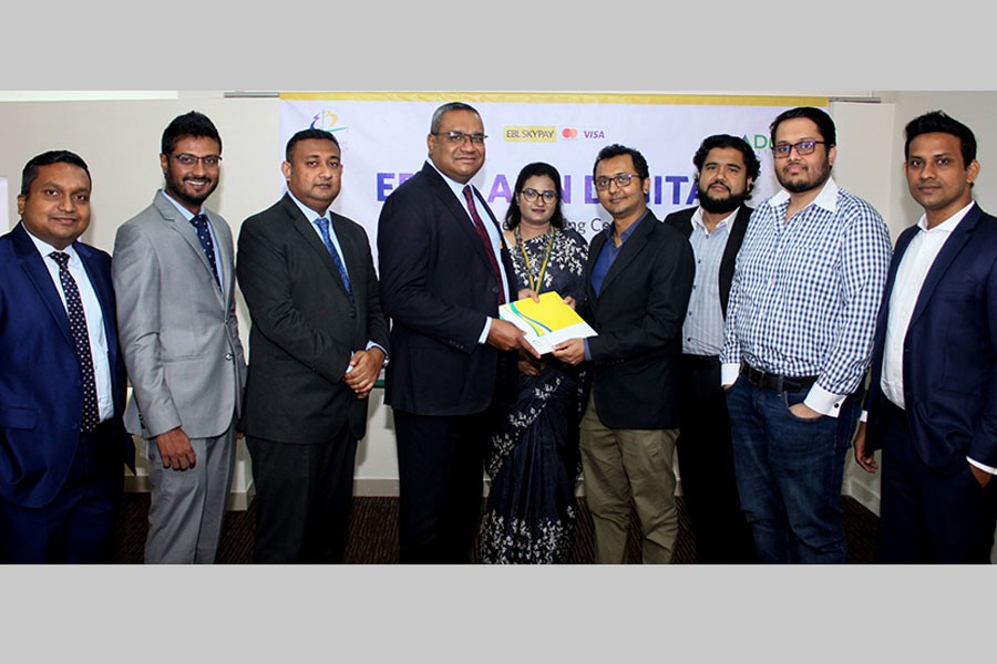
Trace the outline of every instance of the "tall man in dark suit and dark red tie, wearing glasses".
{"label": "tall man in dark suit and dark red tie, wearing glasses", "polygon": [[470,561],[493,403],[515,398],[512,351],[530,349],[498,319],[498,305],[516,299],[515,274],[498,224],[470,184],[485,138],[473,107],[436,108],[429,160],[388,197],[378,225],[402,562]]}

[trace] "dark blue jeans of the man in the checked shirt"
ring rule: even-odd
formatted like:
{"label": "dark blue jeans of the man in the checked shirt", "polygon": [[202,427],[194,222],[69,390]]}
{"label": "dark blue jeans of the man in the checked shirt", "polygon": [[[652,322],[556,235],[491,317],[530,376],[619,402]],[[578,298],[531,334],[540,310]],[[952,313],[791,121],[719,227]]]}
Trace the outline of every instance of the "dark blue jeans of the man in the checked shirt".
{"label": "dark blue jeans of the man in the checked shirt", "polygon": [[841,483],[861,397],[837,418],[796,417],[809,390],[779,393],[738,378],[727,392],[741,509],[761,562],[845,563]]}

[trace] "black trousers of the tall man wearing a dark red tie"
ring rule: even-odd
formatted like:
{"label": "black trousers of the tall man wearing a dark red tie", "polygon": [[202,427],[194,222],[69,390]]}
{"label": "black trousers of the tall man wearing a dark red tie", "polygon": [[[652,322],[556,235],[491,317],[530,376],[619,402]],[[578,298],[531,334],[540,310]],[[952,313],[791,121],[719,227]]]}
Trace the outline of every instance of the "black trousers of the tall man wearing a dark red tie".
{"label": "black trousers of the tall man wearing a dark red tie", "polygon": [[394,411],[402,563],[471,562],[493,424],[491,411],[453,416]]}

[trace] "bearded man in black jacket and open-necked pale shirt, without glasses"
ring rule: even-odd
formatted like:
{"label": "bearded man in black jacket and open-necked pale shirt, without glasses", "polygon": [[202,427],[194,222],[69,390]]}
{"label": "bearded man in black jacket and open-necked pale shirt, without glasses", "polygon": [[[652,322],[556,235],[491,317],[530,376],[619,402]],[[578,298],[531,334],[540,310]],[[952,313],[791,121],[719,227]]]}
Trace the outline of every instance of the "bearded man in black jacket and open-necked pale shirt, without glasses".
{"label": "bearded man in black jacket and open-necked pale shirt, without glasses", "polygon": [[689,238],[696,256],[696,280],[682,323],[676,449],[697,561],[744,563],[753,559],[751,531],[738,500],[720,350],[734,260],[752,211],[743,204],[761,164],[743,138],[729,134],[705,138],[692,164],[699,207],[665,217]]}

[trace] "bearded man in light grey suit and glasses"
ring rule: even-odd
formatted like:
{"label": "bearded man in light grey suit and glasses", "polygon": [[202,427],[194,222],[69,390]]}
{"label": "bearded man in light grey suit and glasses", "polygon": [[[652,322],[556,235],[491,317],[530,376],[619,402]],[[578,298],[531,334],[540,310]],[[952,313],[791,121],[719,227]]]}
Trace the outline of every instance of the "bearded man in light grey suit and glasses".
{"label": "bearded man in light grey suit and glasses", "polygon": [[235,461],[246,363],[228,224],[204,207],[218,186],[222,138],[192,111],[163,132],[165,190],[114,241],[125,425],[147,440],[146,563],[210,563]]}

